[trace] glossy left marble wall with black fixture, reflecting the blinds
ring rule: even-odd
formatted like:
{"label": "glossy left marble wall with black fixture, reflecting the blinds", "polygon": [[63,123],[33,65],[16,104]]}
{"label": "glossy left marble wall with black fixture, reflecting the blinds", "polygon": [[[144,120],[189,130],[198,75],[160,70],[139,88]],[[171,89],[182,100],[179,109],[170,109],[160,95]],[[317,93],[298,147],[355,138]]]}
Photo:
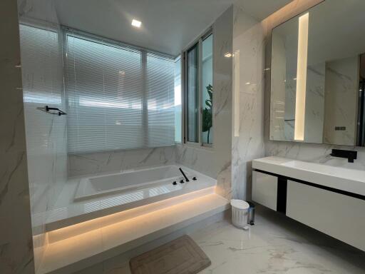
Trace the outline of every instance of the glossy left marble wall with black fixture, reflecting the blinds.
{"label": "glossy left marble wall with black fixture, reflecting the blinds", "polygon": [[46,248],[46,211],[67,181],[66,108],[61,27],[53,1],[20,0],[21,71],[36,269]]}

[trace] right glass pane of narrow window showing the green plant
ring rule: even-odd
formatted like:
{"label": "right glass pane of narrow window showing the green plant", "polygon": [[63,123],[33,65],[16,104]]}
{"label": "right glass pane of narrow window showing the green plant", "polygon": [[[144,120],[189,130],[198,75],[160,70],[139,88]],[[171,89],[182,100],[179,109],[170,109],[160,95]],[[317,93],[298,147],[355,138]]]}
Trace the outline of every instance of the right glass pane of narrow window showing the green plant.
{"label": "right glass pane of narrow window showing the green plant", "polygon": [[202,143],[213,143],[213,35],[202,41]]}

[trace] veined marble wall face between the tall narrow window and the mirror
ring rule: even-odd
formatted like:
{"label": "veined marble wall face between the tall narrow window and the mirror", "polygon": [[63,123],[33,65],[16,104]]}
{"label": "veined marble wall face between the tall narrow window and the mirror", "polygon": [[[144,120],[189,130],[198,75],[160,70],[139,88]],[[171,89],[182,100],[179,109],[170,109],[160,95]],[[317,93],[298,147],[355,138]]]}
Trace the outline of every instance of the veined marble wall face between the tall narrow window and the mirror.
{"label": "veined marble wall face between the tall narrow window and the mirror", "polygon": [[234,5],[232,197],[250,199],[255,158],[264,156],[264,32]]}

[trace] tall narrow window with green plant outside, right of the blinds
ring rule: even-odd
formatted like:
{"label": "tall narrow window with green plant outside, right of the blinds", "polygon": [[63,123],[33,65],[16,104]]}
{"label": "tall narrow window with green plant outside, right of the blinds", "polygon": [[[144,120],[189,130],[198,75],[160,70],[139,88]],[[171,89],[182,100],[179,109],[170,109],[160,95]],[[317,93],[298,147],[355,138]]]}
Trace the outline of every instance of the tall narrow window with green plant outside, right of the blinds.
{"label": "tall narrow window with green plant outside, right of the blinds", "polygon": [[185,141],[210,146],[213,108],[213,35],[185,52]]}

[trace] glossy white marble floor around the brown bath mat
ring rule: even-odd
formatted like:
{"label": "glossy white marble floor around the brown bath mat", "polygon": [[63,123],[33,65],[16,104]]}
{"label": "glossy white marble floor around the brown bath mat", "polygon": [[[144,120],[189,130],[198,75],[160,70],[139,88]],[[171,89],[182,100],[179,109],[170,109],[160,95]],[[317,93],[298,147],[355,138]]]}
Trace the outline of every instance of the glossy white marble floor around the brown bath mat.
{"label": "glossy white marble floor around the brown bath mat", "polygon": [[[202,274],[365,273],[365,252],[267,208],[257,208],[250,230],[222,220],[190,237],[212,261]],[[128,261],[118,256],[80,273],[94,270],[130,274]]]}

